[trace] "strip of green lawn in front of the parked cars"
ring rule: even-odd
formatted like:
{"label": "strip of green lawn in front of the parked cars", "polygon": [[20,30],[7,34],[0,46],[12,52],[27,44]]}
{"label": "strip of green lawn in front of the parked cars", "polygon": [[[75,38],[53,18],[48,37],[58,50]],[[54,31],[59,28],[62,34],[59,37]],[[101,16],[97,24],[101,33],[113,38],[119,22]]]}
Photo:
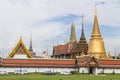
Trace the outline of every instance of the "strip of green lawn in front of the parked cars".
{"label": "strip of green lawn in front of the parked cars", "polygon": [[82,75],[82,74],[74,74],[74,75],[9,74],[9,75],[0,75],[0,80],[120,80],[120,75],[90,76],[90,75]]}

